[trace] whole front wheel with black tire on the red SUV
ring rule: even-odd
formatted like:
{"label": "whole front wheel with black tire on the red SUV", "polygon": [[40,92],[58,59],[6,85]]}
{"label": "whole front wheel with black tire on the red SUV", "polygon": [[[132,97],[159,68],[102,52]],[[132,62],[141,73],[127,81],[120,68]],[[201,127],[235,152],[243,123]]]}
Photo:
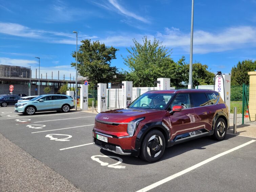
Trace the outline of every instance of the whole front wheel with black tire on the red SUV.
{"label": "whole front wheel with black tire on the red SUV", "polygon": [[[156,150],[155,150],[156,149]],[[140,157],[147,162],[156,162],[165,152],[165,136],[159,130],[149,131],[143,138]]]}

